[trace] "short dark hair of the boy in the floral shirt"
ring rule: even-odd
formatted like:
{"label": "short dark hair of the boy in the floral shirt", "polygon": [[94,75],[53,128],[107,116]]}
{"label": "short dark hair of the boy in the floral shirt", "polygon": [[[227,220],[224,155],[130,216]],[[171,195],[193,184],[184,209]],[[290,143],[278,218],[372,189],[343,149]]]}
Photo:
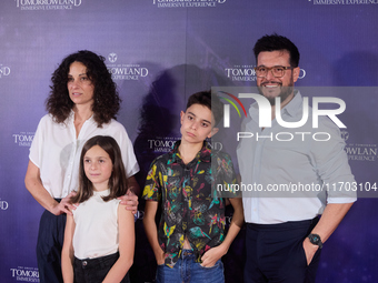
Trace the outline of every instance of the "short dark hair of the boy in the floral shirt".
{"label": "short dark hair of the boy in the floral shirt", "polygon": [[187,109],[192,104],[200,104],[210,109],[215,121],[213,127],[216,127],[223,115],[223,104],[220,102],[217,95],[211,95],[211,91],[200,91],[193,93],[189,97]]}

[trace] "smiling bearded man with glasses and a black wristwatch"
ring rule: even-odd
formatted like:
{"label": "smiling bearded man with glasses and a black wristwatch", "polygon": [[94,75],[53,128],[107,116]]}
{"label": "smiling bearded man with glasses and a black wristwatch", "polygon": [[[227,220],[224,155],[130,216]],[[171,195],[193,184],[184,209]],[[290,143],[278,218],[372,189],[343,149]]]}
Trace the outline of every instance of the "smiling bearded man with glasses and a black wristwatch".
{"label": "smiling bearded man with glasses and a black wristwatch", "polygon": [[[286,129],[276,121],[276,108],[284,121],[300,121],[304,115],[302,97],[294,89],[300,72],[297,47],[272,34],[260,38],[253,52],[257,87],[271,104],[271,127],[259,128],[259,105],[251,104],[241,131],[257,133],[260,139],[241,139],[237,150],[241,182],[262,188],[243,194],[245,282],[315,282],[322,244],[356,201],[355,193],[315,189],[339,181],[352,184],[355,179],[340,131],[330,119],[322,117],[318,129],[312,129],[310,122],[300,129]],[[306,137],[315,131],[327,132],[330,139],[317,142],[304,141],[305,135],[290,141],[272,138],[279,132],[296,131],[310,133]],[[307,185],[309,190],[298,194],[269,191],[281,184],[291,189],[292,184]]]}

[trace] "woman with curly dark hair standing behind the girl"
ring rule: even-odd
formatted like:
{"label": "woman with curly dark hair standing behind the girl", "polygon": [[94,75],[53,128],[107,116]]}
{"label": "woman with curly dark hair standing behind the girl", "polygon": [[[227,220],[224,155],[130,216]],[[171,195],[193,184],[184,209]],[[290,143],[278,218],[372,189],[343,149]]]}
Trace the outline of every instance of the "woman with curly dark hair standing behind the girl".
{"label": "woman with curly dark hair standing behind the girl", "polygon": [[[46,114],[30,148],[26,186],[46,209],[37,243],[40,282],[63,282],[60,259],[66,213],[76,209],[69,200],[79,184],[80,152],[94,135],[110,135],[121,149],[129,188],[138,194],[133,175],[139,171],[131,141],[116,121],[120,98],[105,58],[78,51],[63,59],[53,72]],[[129,190],[130,191],[130,190]],[[138,196],[121,198],[127,210],[136,211]]]}

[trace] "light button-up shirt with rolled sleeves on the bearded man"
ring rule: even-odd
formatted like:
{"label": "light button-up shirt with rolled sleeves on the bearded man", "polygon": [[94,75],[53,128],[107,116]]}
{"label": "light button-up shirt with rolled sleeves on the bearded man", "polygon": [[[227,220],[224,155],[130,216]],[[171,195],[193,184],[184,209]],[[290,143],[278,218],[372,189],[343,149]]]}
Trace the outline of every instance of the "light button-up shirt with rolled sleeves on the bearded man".
{"label": "light button-up shirt with rolled sleeves on the bearded man", "polygon": [[[299,92],[281,109],[281,118],[301,120]],[[284,128],[275,119],[271,128],[262,130],[258,121],[259,109],[253,103],[241,125],[241,132],[253,137],[240,139],[237,149],[241,184],[250,189],[243,192],[246,222],[308,220],[321,214],[327,203],[356,201],[356,192],[340,189],[339,182],[351,186],[355,179],[340,131],[330,119],[320,117],[319,128],[314,129],[309,109],[309,120],[300,128]]]}

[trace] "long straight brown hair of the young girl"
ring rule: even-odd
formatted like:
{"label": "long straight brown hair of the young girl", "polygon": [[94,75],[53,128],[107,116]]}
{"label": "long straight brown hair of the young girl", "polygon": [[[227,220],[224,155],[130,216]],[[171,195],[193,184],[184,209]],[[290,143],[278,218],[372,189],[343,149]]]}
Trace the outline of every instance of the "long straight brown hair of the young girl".
{"label": "long straight brown hair of the young girl", "polygon": [[79,189],[78,193],[71,198],[71,203],[84,202],[93,195],[93,184],[86,175],[83,159],[87,151],[94,145],[99,145],[102,150],[105,150],[109,154],[113,164],[113,170],[109,179],[110,194],[108,196],[102,196],[103,201],[107,202],[118,196],[122,196],[128,190],[128,181],[126,178],[121,150],[117,141],[108,135],[96,135],[89,139],[82,148],[79,169]]}

